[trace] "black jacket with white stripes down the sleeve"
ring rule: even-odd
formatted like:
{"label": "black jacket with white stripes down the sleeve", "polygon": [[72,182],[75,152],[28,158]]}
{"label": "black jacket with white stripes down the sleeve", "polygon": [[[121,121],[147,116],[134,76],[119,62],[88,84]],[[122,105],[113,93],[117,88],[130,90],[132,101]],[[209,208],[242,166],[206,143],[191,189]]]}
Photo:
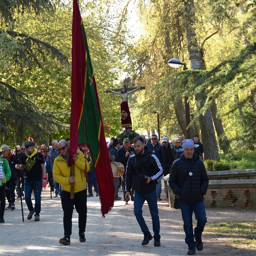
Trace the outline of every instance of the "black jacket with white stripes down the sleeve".
{"label": "black jacket with white stripes down the sleeve", "polygon": [[[137,163],[135,164],[135,160]],[[158,158],[144,148],[144,154],[129,157],[125,172],[125,191],[131,192],[132,176],[135,175],[134,189],[142,194],[156,189],[156,180],[163,174],[163,168]],[[151,177],[151,181],[145,184],[140,177]]]}

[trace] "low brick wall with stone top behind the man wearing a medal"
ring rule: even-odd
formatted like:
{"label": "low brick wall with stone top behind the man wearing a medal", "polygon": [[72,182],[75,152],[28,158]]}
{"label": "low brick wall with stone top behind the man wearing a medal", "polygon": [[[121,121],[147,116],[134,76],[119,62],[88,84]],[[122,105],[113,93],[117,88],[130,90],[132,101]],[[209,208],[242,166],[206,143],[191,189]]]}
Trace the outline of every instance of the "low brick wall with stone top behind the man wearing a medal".
{"label": "low brick wall with stone top behind the man wearing a medal", "polygon": [[[256,207],[256,170],[208,172],[209,186],[204,196],[205,207]],[[169,207],[175,195],[169,186],[169,175],[164,177]]]}

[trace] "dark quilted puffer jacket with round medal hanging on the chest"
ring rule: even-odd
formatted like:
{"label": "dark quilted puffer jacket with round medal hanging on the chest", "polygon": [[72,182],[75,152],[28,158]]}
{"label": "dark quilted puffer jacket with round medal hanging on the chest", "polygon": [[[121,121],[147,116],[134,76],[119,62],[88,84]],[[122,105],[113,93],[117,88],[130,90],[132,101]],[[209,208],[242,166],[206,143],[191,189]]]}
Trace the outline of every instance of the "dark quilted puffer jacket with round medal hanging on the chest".
{"label": "dark quilted puffer jacket with round medal hanging on the chest", "polygon": [[[178,196],[178,201],[190,204],[204,200],[209,183],[203,161],[195,154],[193,154],[193,159],[192,176],[187,175],[189,173],[189,166],[192,165],[192,159],[187,159],[188,166],[183,153],[173,163],[169,177],[169,185],[174,194]],[[183,183],[185,178],[186,180]],[[181,188],[182,183],[183,186]]]}

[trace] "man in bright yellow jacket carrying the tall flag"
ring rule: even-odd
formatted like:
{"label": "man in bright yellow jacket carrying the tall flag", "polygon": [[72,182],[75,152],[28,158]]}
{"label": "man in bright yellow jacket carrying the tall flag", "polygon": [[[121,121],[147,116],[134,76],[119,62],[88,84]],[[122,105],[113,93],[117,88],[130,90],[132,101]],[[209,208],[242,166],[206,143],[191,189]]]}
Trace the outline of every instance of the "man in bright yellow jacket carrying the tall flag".
{"label": "man in bright yellow jacket carrying the tall flag", "polygon": [[[90,166],[86,161],[83,152],[77,151],[76,154],[73,154],[73,160],[75,161],[75,174],[74,177],[70,177],[71,168],[67,166],[70,148],[66,140],[60,140],[58,143],[58,151],[60,151],[61,154],[55,158],[53,177],[56,182],[62,185],[61,205],[64,212],[64,238],[60,239],[60,243],[70,244],[74,205],[79,215],[79,241],[85,242],[84,232],[87,219],[87,187],[86,179],[84,177],[85,163],[87,165],[87,170],[90,169]],[[73,199],[70,199],[70,183],[75,183],[75,195]]]}

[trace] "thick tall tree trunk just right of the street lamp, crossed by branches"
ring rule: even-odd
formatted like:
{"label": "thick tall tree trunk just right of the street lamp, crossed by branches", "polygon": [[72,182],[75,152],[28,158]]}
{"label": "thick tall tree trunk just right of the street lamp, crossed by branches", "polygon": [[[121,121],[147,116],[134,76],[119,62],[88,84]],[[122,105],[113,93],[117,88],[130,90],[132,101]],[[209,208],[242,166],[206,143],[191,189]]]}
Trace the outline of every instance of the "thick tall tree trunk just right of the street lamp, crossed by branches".
{"label": "thick tall tree trunk just right of the street lamp, crossed by branches", "polygon": [[[201,70],[202,64],[200,61],[200,53],[198,50],[198,43],[196,38],[196,33],[194,29],[195,24],[195,7],[193,0],[184,1],[186,15],[186,41],[187,48],[189,52],[189,62],[191,69]],[[196,100],[198,100],[199,95],[196,95]],[[201,101],[198,108],[204,105],[205,101]],[[220,161],[218,154],[218,146],[215,138],[215,131],[212,124],[211,112],[208,109],[204,115],[199,116],[199,123],[201,128],[202,143],[204,145],[204,158]]]}

